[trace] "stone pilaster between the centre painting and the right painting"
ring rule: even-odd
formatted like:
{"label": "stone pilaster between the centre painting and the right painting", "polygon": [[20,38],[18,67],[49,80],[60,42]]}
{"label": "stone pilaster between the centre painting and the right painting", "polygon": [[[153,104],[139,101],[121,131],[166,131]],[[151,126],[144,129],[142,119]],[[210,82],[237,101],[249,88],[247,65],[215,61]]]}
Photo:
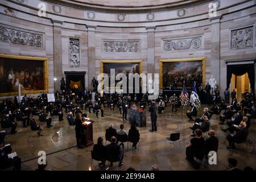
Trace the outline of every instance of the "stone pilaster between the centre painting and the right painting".
{"label": "stone pilaster between the centre painting and the right painting", "polygon": [[155,73],[155,27],[147,29],[147,73]]}

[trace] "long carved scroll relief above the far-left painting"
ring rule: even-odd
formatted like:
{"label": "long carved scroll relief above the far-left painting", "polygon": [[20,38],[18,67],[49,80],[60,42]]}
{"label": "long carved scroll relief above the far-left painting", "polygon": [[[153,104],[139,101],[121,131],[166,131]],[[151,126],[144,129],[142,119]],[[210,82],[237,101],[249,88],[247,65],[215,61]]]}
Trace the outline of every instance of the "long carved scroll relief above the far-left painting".
{"label": "long carved scroll relief above the far-left painting", "polygon": [[0,27],[0,41],[31,47],[43,47],[43,35]]}

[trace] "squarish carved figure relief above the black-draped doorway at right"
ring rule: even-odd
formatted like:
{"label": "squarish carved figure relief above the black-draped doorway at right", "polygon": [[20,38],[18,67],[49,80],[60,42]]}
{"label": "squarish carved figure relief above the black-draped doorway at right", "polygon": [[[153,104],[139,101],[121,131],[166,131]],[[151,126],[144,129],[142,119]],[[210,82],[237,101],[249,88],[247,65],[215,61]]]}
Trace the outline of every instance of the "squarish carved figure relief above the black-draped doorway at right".
{"label": "squarish carved figure relief above the black-draped doorway at right", "polygon": [[230,49],[232,51],[253,48],[254,44],[254,27],[243,27],[231,30]]}

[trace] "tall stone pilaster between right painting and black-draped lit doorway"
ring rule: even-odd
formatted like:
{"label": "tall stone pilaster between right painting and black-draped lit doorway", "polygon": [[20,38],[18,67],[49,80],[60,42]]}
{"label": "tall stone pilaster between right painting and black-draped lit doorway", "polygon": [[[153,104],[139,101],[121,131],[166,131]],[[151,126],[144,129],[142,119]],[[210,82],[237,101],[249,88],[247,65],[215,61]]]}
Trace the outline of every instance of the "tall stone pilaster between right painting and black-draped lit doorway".
{"label": "tall stone pilaster between right painting and black-draped lit doorway", "polygon": [[[210,18],[212,39],[211,39],[211,73],[220,87],[220,19],[221,16]],[[220,88],[219,88],[220,89]]]}

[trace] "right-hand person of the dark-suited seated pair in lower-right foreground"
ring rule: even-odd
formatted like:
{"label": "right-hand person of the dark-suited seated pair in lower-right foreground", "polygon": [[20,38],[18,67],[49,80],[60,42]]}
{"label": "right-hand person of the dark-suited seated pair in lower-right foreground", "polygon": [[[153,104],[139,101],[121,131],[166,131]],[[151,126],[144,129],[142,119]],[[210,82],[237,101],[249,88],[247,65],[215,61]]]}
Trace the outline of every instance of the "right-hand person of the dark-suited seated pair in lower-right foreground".
{"label": "right-hand person of the dark-suited seated pair in lower-right foreground", "polygon": [[204,143],[205,156],[207,157],[210,151],[218,151],[218,138],[215,137],[215,130],[210,130],[208,134],[210,135],[210,138],[206,139]]}

